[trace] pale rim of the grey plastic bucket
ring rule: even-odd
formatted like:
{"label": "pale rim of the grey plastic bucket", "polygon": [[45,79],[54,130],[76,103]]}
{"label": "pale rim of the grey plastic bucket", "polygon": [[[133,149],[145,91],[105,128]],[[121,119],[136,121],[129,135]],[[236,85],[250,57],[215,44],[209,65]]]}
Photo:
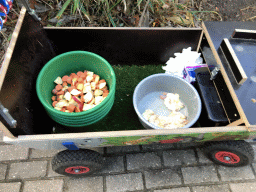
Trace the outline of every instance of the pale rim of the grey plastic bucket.
{"label": "pale rim of the grey plastic bucket", "polygon": [[153,75],[150,75],[146,78],[144,78],[143,80],[141,80],[139,82],[139,84],[136,86],[136,88],[134,89],[134,93],[133,93],[133,107],[137,113],[137,116],[147,125],[149,126],[150,128],[152,129],[164,129],[164,128],[161,128],[161,127],[158,127],[158,126],[155,126],[154,124],[151,124],[149,123],[148,121],[146,121],[144,119],[144,117],[142,116],[142,114],[139,112],[138,110],[138,105],[137,105],[137,102],[136,102],[136,97],[137,97],[137,94],[138,94],[138,90],[139,88],[141,87],[141,85],[147,81],[148,79],[152,78],[152,77],[159,77],[159,76],[170,76],[170,77],[174,77],[174,78],[177,78],[177,79],[180,79],[181,81],[183,81],[184,83],[186,83],[192,90],[193,92],[195,93],[196,95],[196,98],[197,98],[197,101],[198,101],[198,111],[196,113],[196,116],[195,118],[189,122],[187,125],[185,125],[184,127],[180,127],[181,129],[183,128],[189,128],[190,126],[192,126],[193,124],[195,124],[195,122],[198,120],[200,114],[201,114],[201,111],[202,111],[202,102],[201,102],[201,99],[199,97],[199,94],[197,92],[197,90],[195,89],[195,87],[193,87],[193,85],[191,85],[189,82],[187,82],[186,80],[182,79],[181,77],[178,77],[178,76],[175,76],[175,75],[172,75],[172,74],[168,74],[168,73],[157,73],[157,74],[153,74]]}

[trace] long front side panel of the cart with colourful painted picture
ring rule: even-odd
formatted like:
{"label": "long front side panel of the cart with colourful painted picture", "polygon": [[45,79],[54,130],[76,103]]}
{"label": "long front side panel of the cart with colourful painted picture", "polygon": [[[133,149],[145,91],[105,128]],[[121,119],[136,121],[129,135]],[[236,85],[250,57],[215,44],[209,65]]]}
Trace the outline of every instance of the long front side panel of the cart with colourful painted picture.
{"label": "long front side panel of the cart with colourful painted picture", "polygon": [[[256,131],[256,130],[255,130]],[[255,133],[255,132],[254,132]],[[221,140],[245,140],[250,134],[241,127],[208,127],[170,130],[134,130],[51,135],[27,135],[18,139],[5,137],[4,142],[41,150],[65,149],[64,142],[78,148],[144,145],[153,143],[191,143]],[[253,137],[250,137],[253,138]]]}

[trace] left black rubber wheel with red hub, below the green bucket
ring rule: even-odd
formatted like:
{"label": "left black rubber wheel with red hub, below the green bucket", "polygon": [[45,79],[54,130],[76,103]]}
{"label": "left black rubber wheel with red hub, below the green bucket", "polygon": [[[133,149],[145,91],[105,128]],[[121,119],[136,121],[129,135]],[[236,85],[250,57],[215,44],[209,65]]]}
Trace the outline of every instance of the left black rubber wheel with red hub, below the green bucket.
{"label": "left black rubber wheel with red hub, below the green bucket", "polygon": [[100,170],[104,158],[96,151],[89,149],[65,150],[52,159],[52,170],[67,176],[87,176]]}

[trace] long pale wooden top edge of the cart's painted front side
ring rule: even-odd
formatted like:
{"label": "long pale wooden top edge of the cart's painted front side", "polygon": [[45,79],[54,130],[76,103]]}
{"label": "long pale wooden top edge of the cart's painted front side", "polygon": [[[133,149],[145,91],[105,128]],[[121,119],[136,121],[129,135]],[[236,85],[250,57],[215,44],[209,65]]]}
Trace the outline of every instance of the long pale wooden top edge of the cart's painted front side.
{"label": "long pale wooden top edge of the cart's painted front side", "polygon": [[[129,131],[106,131],[106,132],[84,132],[84,133],[64,133],[64,134],[45,134],[45,135],[21,135],[18,140],[63,140],[63,139],[81,139],[81,138],[103,138],[103,137],[131,137],[131,136],[148,136],[148,135],[179,135],[179,134],[197,134],[197,133],[218,133],[218,132],[248,132],[245,126],[230,126],[230,127],[207,127],[207,128],[188,128],[170,129],[170,130],[129,130]],[[4,141],[15,140],[4,137]]]}

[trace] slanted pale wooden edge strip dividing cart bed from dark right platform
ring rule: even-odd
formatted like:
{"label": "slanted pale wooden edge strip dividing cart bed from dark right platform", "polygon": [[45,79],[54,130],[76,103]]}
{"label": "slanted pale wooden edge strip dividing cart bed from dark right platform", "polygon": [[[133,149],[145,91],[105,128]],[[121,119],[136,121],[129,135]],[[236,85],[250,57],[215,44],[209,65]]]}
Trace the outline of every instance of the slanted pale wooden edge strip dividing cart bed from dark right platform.
{"label": "slanted pale wooden edge strip dividing cart bed from dark right platform", "polygon": [[221,71],[221,73],[222,73],[222,75],[223,75],[223,78],[224,78],[224,81],[225,81],[225,83],[226,83],[226,85],[227,85],[227,87],[228,87],[228,89],[229,89],[229,91],[230,91],[231,97],[232,97],[233,100],[234,100],[234,103],[235,103],[235,105],[236,105],[236,107],[237,107],[237,110],[238,110],[238,112],[239,112],[239,114],[240,114],[240,116],[241,116],[243,122],[244,122],[245,125],[248,127],[248,126],[250,126],[250,123],[248,122],[248,120],[247,120],[247,118],[246,118],[246,115],[245,115],[245,113],[244,113],[244,110],[243,110],[242,106],[241,106],[240,103],[239,103],[239,100],[238,100],[238,98],[237,98],[237,95],[236,95],[236,93],[235,93],[235,91],[234,91],[234,89],[233,89],[233,87],[232,87],[232,85],[231,85],[231,82],[230,82],[230,80],[229,80],[229,78],[228,78],[228,75],[227,75],[227,73],[226,73],[226,71],[225,71],[223,65],[222,65],[222,62],[221,62],[221,60],[220,60],[220,57],[218,56],[218,53],[217,53],[217,51],[216,51],[216,49],[215,49],[215,47],[214,47],[214,45],[213,45],[213,42],[212,42],[212,40],[211,40],[211,37],[210,37],[210,35],[209,35],[208,31],[207,31],[207,28],[206,28],[204,22],[202,22],[202,28],[203,28],[203,31],[204,31],[204,33],[205,33],[205,37],[206,37],[206,39],[207,39],[207,41],[208,41],[208,43],[209,43],[209,46],[210,46],[210,48],[211,48],[211,50],[212,50],[212,53],[213,53],[213,55],[214,55],[214,57],[215,57],[215,59],[216,59],[216,61],[217,61],[217,64],[220,66],[220,71]]}

